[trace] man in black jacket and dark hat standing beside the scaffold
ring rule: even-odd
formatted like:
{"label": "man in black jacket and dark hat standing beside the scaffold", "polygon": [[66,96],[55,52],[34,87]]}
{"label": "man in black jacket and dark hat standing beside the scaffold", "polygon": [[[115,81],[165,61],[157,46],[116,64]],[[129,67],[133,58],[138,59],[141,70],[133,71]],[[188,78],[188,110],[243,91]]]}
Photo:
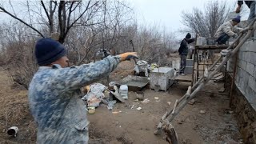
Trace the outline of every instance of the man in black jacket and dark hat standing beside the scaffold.
{"label": "man in black jacket and dark hat standing beside the scaffold", "polygon": [[181,57],[181,66],[179,70],[179,74],[185,75],[184,70],[186,68],[186,56],[189,53],[189,44],[194,42],[194,38],[191,38],[191,34],[186,34],[186,38],[184,38],[181,42],[181,46],[178,49],[178,53]]}

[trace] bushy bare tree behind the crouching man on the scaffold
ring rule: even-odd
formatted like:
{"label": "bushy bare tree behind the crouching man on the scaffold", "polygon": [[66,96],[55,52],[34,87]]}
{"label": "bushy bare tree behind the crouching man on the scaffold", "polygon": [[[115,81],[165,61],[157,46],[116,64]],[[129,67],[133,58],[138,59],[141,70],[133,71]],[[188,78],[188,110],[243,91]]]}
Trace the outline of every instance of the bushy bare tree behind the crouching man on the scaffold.
{"label": "bushy bare tree behind the crouching man on the scaffold", "polygon": [[202,37],[214,37],[218,27],[226,21],[231,8],[227,2],[208,1],[204,10],[194,8],[192,12],[182,12],[182,23]]}

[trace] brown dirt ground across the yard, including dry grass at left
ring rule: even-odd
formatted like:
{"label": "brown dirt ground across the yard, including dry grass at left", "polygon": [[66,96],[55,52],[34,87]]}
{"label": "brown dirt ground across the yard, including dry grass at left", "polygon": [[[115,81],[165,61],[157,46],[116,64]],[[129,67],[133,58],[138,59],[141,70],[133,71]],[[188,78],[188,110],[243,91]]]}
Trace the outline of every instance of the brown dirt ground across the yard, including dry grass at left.
{"label": "brown dirt ground across the yard, including dry grass at left", "polygon": [[[118,80],[132,74],[133,62],[123,62],[110,74],[110,80]],[[128,104],[117,103],[114,110],[105,105],[87,114],[90,120],[90,143],[167,143],[165,135],[154,135],[154,130],[166,110],[174,106],[176,99],[186,93],[190,83],[178,82],[167,92],[145,89],[144,98],[149,102],[134,102],[136,93],[129,92]],[[0,143],[35,143],[36,126],[29,112],[27,93],[10,81],[6,70],[0,68]],[[211,82],[205,91],[218,92],[222,83]],[[155,99],[158,98],[158,99]],[[229,98],[225,94],[200,92],[194,105],[187,105],[172,122],[180,143],[242,143]],[[137,110],[141,107],[141,110]],[[201,114],[200,110],[205,110]],[[113,113],[114,112],[114,113]],[[18,126],[16,138],[6,134],[9,126]]]}

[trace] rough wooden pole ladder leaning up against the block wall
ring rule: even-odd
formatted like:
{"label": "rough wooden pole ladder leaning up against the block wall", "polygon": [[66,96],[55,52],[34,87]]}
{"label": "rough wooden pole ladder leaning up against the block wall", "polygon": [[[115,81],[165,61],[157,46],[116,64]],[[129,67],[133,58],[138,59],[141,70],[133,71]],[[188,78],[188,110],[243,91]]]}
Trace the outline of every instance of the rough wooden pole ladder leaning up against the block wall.
{"label": "rough wooden pole ladder leaning up against the block wall", "polygon": [[[190,102],[190,100],[194,98],[196,94],[198,94],[199,90],[202,90],[202,88],[206,86],[206,84],[210,81],[210,79],[212,79],[214,75],[217,74],[219,70],[221,70],[222,66],[224,66],[225,63],[230,58],[232,58],[234,54],[238,52],[238,50],[244,44],[244,42],[246,42],[246,40],[251,37],[251,35],[254,33],[254,30],[256,30],[255,21],[256,21],[256,18],[254,18],[254,21],[251,22],[249,26],[247,26],[244,30],[242,30],[242,33],[238,36],[238,38],[236,38],[234,42],[226,49],[226,55],[222,55],[221,57],[219,57],[212,64],[212,66],[210,66],[209,70],[206,70],[206,73],[203,75],[202,78],[198,80],[198,82],[194,84],[194,86],[192,87],[189,86],[186,94],[183,95],[182,98],[178,99],[175,102],[174,108],[167,111],[166,114],[162,116],[162,118],[160,119],[160,122],[158,123],[157,130],[154,131],[154,134],[157,135],[161,130],[163,130],[166,133],[166,136],[167,136],[166,140],[168,142],[171,141],[170,143],[173,143],[173,144],[178,143],[177,134],[174,130],[174,127],[171,126],[170,122],[172,122],[175,116],[178,115],[178,113],[186,106],[186,104]],[[242,37],[245,34],[246,36]],[[239,42],[240,38],[242,38],[242,40]],[[219,61],[221,61],[221,59],[222,59],[222,62],[216,67],[216,64]],[[215,70],[214,70],[214,67],[216,67]]]}

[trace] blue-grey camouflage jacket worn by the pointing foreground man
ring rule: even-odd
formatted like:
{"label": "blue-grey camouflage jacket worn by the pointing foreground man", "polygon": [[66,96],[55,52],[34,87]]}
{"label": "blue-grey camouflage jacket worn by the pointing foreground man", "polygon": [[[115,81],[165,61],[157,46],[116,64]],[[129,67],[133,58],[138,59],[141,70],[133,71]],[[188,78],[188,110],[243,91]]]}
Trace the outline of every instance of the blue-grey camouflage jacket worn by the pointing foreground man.
{"label": "blue-grey camouflage jacket worn by the pointing foreground man", "polygon": [[118,56],[108,56],[82,66],[40,66],[29,88],[37,143],[87,143],[89,122],[80,88],[106,77],[119,62]]}

